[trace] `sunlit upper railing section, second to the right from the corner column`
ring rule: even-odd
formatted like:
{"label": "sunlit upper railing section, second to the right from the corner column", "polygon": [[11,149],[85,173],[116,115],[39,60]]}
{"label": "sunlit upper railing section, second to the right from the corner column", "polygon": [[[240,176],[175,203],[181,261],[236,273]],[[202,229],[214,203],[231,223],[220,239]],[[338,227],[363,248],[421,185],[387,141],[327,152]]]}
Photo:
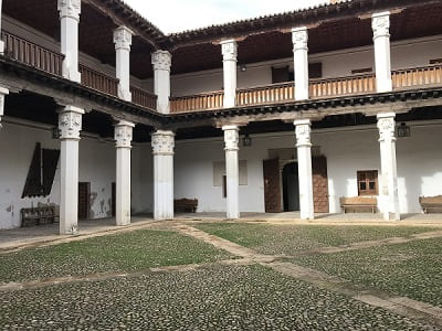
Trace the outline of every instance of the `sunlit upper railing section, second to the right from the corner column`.
{"label": "sunlit upper railing section, second to the right from the corner column", "polygon": [[293,100],[295,97],[295,86],[293,82],[283,84],[272,84],[236,92],[236,105],[264,105],[272,103],[283,103]]}

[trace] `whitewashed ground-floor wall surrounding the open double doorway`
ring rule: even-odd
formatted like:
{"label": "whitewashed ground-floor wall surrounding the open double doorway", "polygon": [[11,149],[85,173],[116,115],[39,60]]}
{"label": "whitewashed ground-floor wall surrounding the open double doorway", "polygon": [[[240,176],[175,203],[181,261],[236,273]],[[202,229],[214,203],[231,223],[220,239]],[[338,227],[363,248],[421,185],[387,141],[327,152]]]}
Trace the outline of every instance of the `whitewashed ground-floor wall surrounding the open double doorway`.
{"label": "whitewashed ground-floor wall surrounding the open double doorway", "polygon": [[[420,213],[419,196],[442,194],[442,124],[412,125],[412,137],[398,139],[400,210]],[[339,213],[340,196],[356,196],[358,170],[379,170],[380,152],[375,127],[317,130],[313,142],[327,157],[330,212]],[[240,186],[240,210],[264,212],[262,161],[269,149],[294,148],[292,134],[253,136],[253,146],[240,149],[248,160],[249,184]],[[223,160],[221,139],[188,140],[177,143],[175,183],[177,199],[199,200],[199,212],[224,212],[222,188],[213,186],[213,162]]]}

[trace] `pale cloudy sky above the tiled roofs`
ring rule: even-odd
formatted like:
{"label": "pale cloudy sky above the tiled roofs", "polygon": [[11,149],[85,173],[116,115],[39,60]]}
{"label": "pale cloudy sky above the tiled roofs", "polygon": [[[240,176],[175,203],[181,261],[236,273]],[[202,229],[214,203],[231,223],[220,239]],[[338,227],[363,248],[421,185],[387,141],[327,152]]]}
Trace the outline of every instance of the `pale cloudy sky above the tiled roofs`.
{"label": "pale cloudy sky above the tiled roofs", "polygon": [[165,33],[292,11],[326,0],[124,0]]}

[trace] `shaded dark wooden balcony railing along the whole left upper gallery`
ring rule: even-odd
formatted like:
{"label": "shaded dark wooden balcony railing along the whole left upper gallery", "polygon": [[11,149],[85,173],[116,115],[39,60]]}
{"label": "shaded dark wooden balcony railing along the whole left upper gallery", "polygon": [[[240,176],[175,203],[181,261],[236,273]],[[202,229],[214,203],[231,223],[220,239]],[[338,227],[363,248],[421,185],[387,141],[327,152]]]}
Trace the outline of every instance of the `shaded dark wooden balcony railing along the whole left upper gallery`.
{"label": "shaded dark wooden balcony railing along the whole left upper gallery", "polygon": [[[1,39],[4,42],[4,55],[7,57],[49,74],[62,76],[62,54],[50,51],[6,31],[1,32]],[[82,85],[114,97],[118,96],[118,79],[82,64],[80,64],[78,71],[82,74]],[[156,110],[156,95],[134,86],[130,86],[130,92],[134,104]]]}

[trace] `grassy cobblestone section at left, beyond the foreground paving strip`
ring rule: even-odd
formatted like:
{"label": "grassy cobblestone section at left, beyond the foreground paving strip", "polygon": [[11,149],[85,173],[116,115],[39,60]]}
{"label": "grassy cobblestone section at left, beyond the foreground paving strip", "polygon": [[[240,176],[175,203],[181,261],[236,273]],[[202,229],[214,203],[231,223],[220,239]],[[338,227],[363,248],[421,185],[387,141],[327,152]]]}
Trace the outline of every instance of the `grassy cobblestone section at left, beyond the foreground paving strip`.
{"label": "grassy cobblestone section at left, beyond the foreground paving strip", "polygon": [[144,229],[1,254],[0,284],[133,271],[225,258],[232,256],[176,232]]}

